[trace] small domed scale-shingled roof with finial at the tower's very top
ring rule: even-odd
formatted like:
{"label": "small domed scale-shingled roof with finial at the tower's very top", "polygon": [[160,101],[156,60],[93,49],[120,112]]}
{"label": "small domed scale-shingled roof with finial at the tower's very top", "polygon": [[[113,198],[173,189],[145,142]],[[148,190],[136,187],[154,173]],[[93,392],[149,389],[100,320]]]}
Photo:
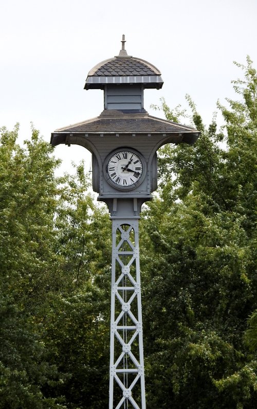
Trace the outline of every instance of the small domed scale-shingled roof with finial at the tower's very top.
{"label": "small domed scale-shingled roof with finial at the tower's very top", "polygon": [[103,88],[105,84],[143,84],[144,88],[161,88],[163,80],[161,73],[148,61],[128,56],[124,48],[116,57],[109,58],[93,67],[87,76],[85,89]]}

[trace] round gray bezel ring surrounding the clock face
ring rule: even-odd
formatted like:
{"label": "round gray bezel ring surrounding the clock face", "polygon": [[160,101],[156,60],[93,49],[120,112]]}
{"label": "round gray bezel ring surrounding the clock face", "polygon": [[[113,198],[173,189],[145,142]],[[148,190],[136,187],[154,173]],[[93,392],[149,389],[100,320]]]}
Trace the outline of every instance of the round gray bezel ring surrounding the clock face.
{"label": "round gray bezel ring surrounding the clock face", "polygon": [[[115,182],[112,181],[112,179],[110,178],[109,174],[108,174],[108,164],[110,159],[116,154],[116,153],[122,153],[124,151],[127,152],[131,152],[134,155],[138,156],[138,158],[140,159],[141,163],[142,163],[142,174],[139,177],[139,179],[133,183],[132,185],[129,186],[123,186],[123,185],[118,185]],[[114,149],[112,152],[110,152],[106,158],[104,159],[104,164],[103,164],[103,171],[104,171],[104,177],[106,182],[111,185],[112,187],[114,187],[115,189],[118,190],[122,190],[122,191],[129,191],[129,190],[134,190],[136,189],[138,186],[141,185],[141,183],[144,181],[145,179],[145,174],[146,174],[146,161],[145,158],[143,157],[143,155],[138,152],[136,149],[134,148],[130,148],[130,147],[120,147],[117,149]]]}

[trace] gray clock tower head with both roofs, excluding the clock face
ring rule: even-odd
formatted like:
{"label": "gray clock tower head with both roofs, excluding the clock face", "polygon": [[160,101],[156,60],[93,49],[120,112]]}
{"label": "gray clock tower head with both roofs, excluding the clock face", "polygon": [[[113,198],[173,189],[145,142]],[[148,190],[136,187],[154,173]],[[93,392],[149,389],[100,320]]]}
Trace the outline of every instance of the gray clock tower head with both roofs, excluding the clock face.
{"label": "gray clock tower head with both roofs, excluding the clock face", "polygon": [[[51,135],[52,146],[81,145],[93,154],[93,189],[99,193],[99,200],[108,203],[112,215],[116,211],[112,208],[116,206],[112,202],[114,199],[136,198],[140,199],[140,205],[151,200],[152,192],[157,189],[156,151],[161,146],[169,143],[193,145],[199,136],[199,131],[192,127],[153,117],[144,110],[144,88],[160,88],[163,81],[154,65],[127,56],[124,43],[123,37],[119,56],[97,64],[86,80],[86,89],[104,90],[102,113],[96,118],[59,128]],[[117,150],[124,150],[126,156],[129,149],[133,149],[133,155],[137,151],[142,156],[145,174],[142,183],[128,185],[129,189],[125,189],[126,185],[123,188],[109,183],[106,161]],[[138,216],[140,210],[135,211]]]}

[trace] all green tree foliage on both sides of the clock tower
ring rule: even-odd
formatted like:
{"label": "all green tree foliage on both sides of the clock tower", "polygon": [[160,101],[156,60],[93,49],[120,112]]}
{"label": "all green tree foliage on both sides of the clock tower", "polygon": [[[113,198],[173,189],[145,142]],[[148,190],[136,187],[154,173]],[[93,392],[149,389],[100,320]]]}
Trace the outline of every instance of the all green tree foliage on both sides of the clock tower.
{"label": "all green tree foliage on both sides of the clock tower", "polygon": [[[196,105],[166,117],[201,131],[159,151],[141,228],[149,409],[244,408],[257,399],[256,70],[205,127]],[[158,109],[158,107],[156,107]],[[56,177],[32,127],[0,138],[0,408],[107,407],[111,222],[83,162]]]}

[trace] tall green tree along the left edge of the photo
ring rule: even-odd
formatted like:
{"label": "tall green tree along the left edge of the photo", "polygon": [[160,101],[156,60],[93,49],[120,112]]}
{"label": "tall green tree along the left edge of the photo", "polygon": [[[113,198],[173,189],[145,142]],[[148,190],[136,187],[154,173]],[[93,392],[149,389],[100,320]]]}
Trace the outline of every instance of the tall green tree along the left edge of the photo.
{"label": "tall green tree along the left edge of the photo", "polygon": [[51,277],[58,162],[37,131],[24,148],[16,143],[18,131],[2,128],[0,139],[0,407],[65,407],[42,392],[64,375],[49,362],[32,314]]}

